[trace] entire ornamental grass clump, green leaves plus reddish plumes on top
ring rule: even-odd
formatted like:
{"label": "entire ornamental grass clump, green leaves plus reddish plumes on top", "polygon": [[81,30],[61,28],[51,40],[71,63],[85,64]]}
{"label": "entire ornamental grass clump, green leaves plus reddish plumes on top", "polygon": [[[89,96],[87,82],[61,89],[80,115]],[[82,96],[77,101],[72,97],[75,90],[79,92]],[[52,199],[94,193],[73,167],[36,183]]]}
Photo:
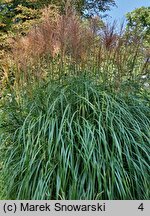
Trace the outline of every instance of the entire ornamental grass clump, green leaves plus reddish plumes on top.
{"label": "entire ornamental grass clump, green leaves plus reddish plumes on top", "polygon": [[1,67],[0,197],[149,199],[142,39],[72,9],[43,11]]}

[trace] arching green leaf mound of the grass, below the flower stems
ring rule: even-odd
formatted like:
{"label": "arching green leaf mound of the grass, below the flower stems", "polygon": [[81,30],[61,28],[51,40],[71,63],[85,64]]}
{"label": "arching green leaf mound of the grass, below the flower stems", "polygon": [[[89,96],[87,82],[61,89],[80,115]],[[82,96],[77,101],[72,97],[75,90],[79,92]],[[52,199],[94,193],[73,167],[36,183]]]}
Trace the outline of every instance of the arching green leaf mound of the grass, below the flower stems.
{"label": "arching green leaf mound of the grass, below the flower stems", "polygon": [[150,198],[148,98],[79,76],[35,88],[4,109],[6,199]]}

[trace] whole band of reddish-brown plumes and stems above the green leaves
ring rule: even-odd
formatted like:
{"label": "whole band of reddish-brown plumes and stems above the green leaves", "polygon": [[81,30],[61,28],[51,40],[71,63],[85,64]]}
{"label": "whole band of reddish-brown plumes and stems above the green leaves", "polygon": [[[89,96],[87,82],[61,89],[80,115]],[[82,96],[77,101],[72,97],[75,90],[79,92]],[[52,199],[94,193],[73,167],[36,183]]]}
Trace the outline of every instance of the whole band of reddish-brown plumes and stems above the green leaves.
{"label": "whole band of reddish-brown plumes and stems above the green leaves", "polygon": [[[52,16],[54,14],[54,16]],[[97,83],[120,91],[133,91],[140,76],[148,73],[143,42],[138,36],[116,31],[116,24],[105,24],[93,17],[81,19],[72,8],[60,14],[57,8],[45,8],[39,25],[16,39],[12,55],[16,62],[15,83],[30,86],[33,82],[78,76],[86,72]]]}

